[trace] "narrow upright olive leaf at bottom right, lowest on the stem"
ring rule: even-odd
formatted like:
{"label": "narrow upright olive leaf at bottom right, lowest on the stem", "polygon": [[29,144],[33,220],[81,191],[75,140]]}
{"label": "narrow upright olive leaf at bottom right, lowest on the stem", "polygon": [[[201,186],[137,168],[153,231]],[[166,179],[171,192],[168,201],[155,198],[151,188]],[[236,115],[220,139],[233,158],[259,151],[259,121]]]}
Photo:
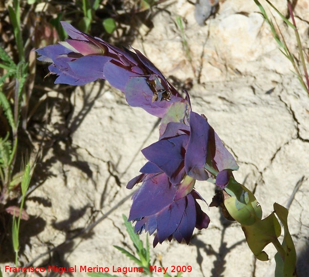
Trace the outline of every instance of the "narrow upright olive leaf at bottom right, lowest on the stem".
{"label": "narrow upright olive leaf at bottom right, lowest on the stem", "polygon": [[296,251],[288,227],[289,211],[285,207],[277,203],[273,204],[273,209],[284,228],[282,248],[285,251],[284,261],[282,260],[279,253],[275,255],[275,261],[276,261],[275,277],[281,277],[281,276],[296,277]]}

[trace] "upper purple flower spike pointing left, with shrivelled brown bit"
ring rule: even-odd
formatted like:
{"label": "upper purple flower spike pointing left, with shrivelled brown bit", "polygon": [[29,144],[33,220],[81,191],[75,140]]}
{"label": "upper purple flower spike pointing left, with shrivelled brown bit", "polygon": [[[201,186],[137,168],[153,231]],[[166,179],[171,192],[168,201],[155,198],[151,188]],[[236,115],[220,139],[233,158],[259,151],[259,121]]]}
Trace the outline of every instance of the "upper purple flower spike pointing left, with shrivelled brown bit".
{"label": "upper purple flower spike pointing left, with shrivelled brown bit", "polygon": [[119,49],[99,38],[61,22],[71,39],[36,52],[41,61],[52,62],[49,70],[55,83],[83,85],[106,79],[125,93],[129,105],[141,107],[159,118],[174,102],[186,102],[162,73],[138,50]]}

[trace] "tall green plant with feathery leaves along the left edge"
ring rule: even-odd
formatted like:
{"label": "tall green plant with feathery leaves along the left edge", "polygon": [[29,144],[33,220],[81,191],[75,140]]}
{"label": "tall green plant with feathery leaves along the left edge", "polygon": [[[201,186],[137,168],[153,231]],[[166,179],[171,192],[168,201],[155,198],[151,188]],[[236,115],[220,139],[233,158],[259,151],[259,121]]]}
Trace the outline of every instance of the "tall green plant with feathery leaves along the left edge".
{"label": "tall green plant with feathery leaves along the left edge", "polygon": [[[27,220],[28,218],[23,206],[34,164],[28,162],[24,169],[14,174],[16,172],[16,160],[21,160],[21,157],[17,157],[18,126],[20,125],[21,106],[24,106],[27,102],[25,84],[29,76],[29,69],[21,36],[19,1],[14,0],[13,7],[9,6],[8,11],[13,26],[19,62],[15,63],[5,50],[0,47],[0,68],[3,70],[3,75],[0,78],[0,116],[3,114],[1,120],[4,122],[4,128],[1,131],[6,133],[4,138],[0,136],[0,212],[5,211],[13,215],[12,240],[15,251],[15,264],[18,266],[20,219]],[[15,81],[13,94],[6,89],[5,81],[7,79]],[[8,206],[8,200],[17,197],[16,195],[12,196],[11,192],[16,190],[19,184],[21,189],[20,206]]]}

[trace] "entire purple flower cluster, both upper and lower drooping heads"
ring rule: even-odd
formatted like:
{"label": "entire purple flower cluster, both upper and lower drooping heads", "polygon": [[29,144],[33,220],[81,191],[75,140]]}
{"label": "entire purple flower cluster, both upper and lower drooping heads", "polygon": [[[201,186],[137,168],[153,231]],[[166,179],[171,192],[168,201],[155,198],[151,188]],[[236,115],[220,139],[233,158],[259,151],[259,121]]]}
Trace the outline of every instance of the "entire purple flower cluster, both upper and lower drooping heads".
{"label": "entire purple flower cluster, both upper and lower drooping heads", "polygon": [[194,228],[207,228],[209,217],[197,200],[196,180],[210,180],[220,189],[238,166],[203,115],[191,110],[162,73],[138,50],[119,49],[62,22],[71,39],[37,49],[41,61],[52,62],[56,83],[82,85],[106,79],[125,93],[127,102],[161,118],[159,140],[142,150],[148,160],[141,174],[127,184],[141,183],[132,197],[128,220],[135,232],[153,234],[153,245],[173,237],[189,243]]}

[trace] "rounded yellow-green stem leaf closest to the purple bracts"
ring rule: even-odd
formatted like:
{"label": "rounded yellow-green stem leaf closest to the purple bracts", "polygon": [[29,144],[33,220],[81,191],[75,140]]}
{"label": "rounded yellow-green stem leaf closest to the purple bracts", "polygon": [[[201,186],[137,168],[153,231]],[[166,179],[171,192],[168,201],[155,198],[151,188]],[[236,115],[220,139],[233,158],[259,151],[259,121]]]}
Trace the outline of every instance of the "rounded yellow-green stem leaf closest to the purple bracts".
{"label": "rounded yellow-green stem leaf closest to the purple bracts", "polygon": [[229,214],[241,225],[252,225],[262,218],[262,208],[253,193],[230,178],[224,191],[230,196],[224,199]]}

